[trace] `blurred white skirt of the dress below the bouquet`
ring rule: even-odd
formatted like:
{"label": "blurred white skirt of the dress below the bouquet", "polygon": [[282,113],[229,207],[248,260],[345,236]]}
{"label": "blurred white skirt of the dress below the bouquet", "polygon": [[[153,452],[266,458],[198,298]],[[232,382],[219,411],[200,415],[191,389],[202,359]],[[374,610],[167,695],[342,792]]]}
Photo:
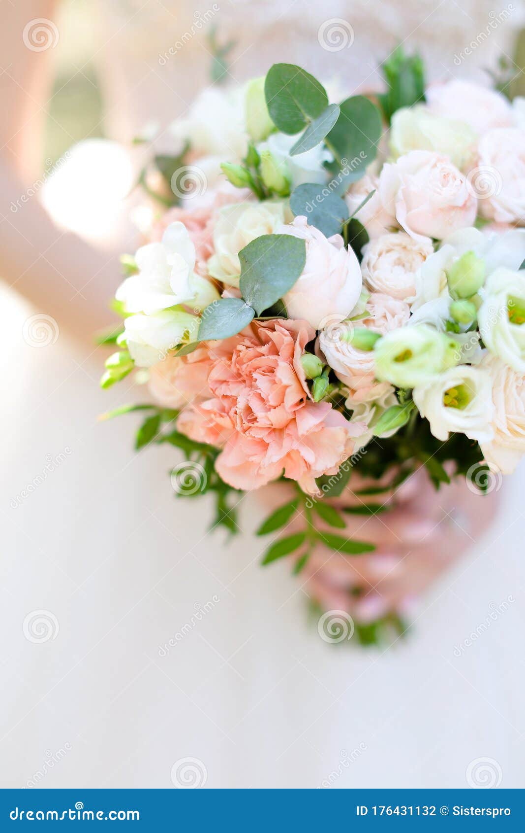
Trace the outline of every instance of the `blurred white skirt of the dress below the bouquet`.
{"label": "blurred white skirt of the dress below the bouquet", "polygon": [[[101,357],[62,335],[28,347],[32,311],[7,294],[2,307],[2,786],[35,783],[61,749],[38,786],[171,787],[185,757],[213,787],[315,787],[339,771],[334,787],[467,786],[480,757],[498,761],[501,786],[523,786],[523,472],[483,546],[423,600],[408,641],[384,654],[327,646],[287,568],[258,566],[255,499],[241,507],[245,534],[224,548],[222,533],[206,536],[206,499],[173,497],[176,451],[132,454],[131,416],[97,423],[126,401],[122,387],[97,390]],[[22,631],[39,609],[59,623],[42,644]]]}

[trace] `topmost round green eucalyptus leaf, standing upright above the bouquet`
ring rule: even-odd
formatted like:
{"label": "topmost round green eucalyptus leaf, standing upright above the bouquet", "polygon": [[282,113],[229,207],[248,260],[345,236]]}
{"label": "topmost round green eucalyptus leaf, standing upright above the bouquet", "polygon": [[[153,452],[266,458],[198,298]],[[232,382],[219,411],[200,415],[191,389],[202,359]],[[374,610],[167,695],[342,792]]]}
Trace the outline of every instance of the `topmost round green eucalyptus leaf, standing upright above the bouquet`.
{"label": "topmost round green eucalyptus leaf, standing upright above the bouquet", "polygon": [[299,133],[328,107],[326,90],[309,72],[293,63],[275,63],[265,80],[270,118],[283,133]]}

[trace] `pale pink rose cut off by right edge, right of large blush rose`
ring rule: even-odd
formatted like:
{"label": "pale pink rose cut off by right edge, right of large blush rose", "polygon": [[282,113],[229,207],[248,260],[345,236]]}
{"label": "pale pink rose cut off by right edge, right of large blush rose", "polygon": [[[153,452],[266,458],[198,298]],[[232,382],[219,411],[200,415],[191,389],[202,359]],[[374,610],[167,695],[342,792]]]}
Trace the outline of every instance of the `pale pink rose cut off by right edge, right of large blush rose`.
{"label": "pale pink rose cut off by right edge, right of large blush rose", "polygon": [[525,226],[525,129],[507,127],[485,133],[469,176],[483,217]]}

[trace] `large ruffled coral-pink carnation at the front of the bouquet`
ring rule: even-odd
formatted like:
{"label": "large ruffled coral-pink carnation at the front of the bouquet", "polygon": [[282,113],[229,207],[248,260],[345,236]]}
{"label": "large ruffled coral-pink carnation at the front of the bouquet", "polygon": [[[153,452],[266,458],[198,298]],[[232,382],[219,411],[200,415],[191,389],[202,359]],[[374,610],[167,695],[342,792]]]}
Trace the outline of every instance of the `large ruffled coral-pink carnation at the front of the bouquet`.
{"label": "large ruffled coral-pink carnation at the front of the bouquet", "polygon": [[354,450],[363,426],[311,400],[300,358],[314,336],[305,321],[256,322],[220,352],[217,342],[205,348],[208,398],[181,413],[178,429],[222,449],[215,468],[230,486],[256,489],[284,473],[317,491],[315,477],[335,474]]}

